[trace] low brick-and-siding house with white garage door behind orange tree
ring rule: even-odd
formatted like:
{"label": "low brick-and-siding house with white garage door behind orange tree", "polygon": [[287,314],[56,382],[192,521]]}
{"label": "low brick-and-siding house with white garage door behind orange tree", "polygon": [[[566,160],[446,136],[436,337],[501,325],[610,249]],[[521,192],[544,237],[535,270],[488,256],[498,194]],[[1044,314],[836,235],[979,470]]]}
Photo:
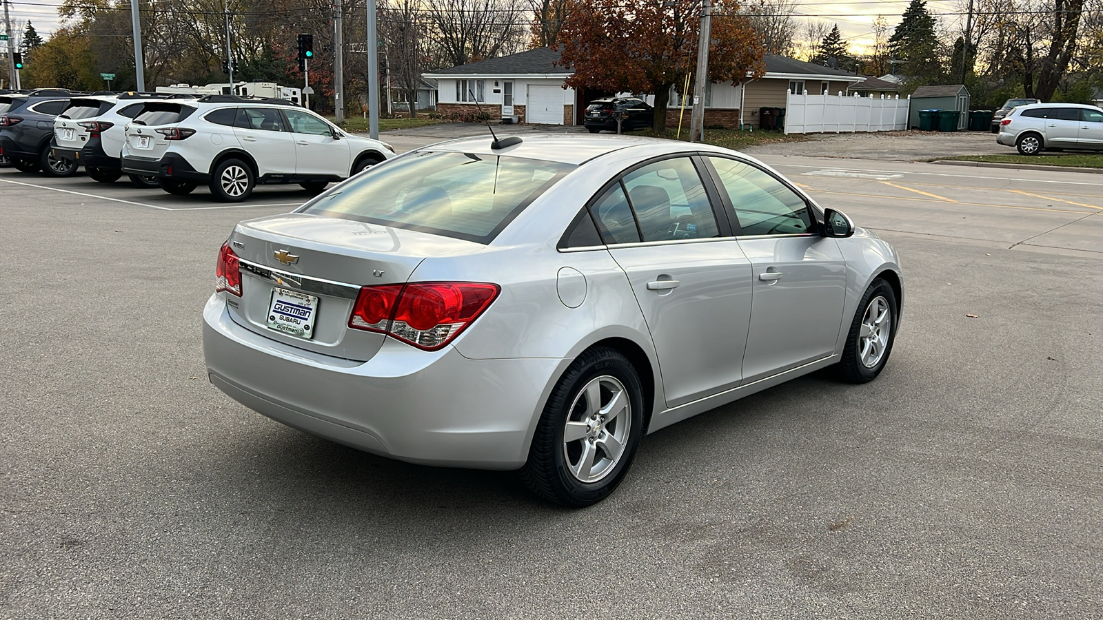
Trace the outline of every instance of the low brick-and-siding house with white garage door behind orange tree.
{"label": "low brick-and-siding house with white garage door behind orange tree", "polygon": [[[472,109],[478,99],[491,115],[501,110],[503,118],[516,116],[521,122],[581,125],[587,101],[615,93],[565,86],[574,71],[559,64],[559,53],[555,50],[537,47],[440,70],[425,77],[437,81],[439,111]],[[784,108],[785,93],[790,88],[817,94],[845,93],[850,84],[865,79],[865,76],[784,56],[768,54],[763,61],[767,73],[759,79],[741,84],[713,83],[706,87],[706,126],[758,126],[759,108]],[[676,126],[683,111],[682,101],[676,93],[672,95],[666,124]],[[646,100],[653,104],[654,96],[646,96]],[[683,121],[686,124],[689,120],[688,109],[686,107],[684,111]]]}

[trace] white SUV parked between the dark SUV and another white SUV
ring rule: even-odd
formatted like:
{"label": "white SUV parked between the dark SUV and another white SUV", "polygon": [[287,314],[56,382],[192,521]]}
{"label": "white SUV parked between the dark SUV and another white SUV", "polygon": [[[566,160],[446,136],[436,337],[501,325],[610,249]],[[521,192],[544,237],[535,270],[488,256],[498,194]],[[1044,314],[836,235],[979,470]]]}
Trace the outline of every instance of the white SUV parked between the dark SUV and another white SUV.
{"label": "white SUV parked between the dark SUV and another white SUV", "polygon": [[[57,159],[84,165],[88,177],[114,183],[122,177],[122,128],[141,114],[149,101],[194,98],[192,95],[125,93],[74,97],[54,119],[52,153]],[[130,175],[136,188],[157,188],[156,175]]]}

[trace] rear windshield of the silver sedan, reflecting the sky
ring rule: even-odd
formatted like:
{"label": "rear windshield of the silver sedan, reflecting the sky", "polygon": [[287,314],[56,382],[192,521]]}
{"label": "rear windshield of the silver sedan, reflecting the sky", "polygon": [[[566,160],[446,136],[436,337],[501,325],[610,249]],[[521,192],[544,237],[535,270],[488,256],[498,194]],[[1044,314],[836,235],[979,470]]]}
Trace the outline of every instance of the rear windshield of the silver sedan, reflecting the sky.
{"label": "rear windshield of the silver sedan, reflecting the sky", "polygon": [[488,244],[574,168],[507,156],[418,153],[364,173],[302,213]]}

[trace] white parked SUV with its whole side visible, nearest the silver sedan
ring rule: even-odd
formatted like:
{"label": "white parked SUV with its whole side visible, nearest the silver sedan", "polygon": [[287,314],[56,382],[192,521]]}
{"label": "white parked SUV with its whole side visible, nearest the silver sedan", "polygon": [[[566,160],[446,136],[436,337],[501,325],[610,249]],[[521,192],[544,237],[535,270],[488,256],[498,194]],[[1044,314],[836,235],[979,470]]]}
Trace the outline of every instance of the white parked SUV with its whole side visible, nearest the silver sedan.
{"label": "white parked SUV with its whole side visible, nearest the silver sedan", "polygon": [[207,95],[154,101],[126,128],[122,171],[156,174],[170,194],[200,183],[239,202],[257,183],[298,183],[320,193],[394,157],[389,145],[345,133],[289,101]]}

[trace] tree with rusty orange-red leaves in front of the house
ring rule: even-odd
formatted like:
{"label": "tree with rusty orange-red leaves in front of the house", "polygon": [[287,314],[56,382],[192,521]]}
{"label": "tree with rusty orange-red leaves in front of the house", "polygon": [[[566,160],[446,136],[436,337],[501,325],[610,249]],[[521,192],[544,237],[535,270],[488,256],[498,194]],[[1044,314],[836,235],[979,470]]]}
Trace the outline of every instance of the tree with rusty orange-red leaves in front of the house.
{"label": "tree with rusty orange-red leaves in front of the house", "polygon": [[[735,0],[713,2],[708,78],[761,77],[763,47]],[[682,85],[697,63],[699,0],[570,0],[559,31],[564,65],[572,87],[652,93],[654,129],[666,127],[671,87]]]}

